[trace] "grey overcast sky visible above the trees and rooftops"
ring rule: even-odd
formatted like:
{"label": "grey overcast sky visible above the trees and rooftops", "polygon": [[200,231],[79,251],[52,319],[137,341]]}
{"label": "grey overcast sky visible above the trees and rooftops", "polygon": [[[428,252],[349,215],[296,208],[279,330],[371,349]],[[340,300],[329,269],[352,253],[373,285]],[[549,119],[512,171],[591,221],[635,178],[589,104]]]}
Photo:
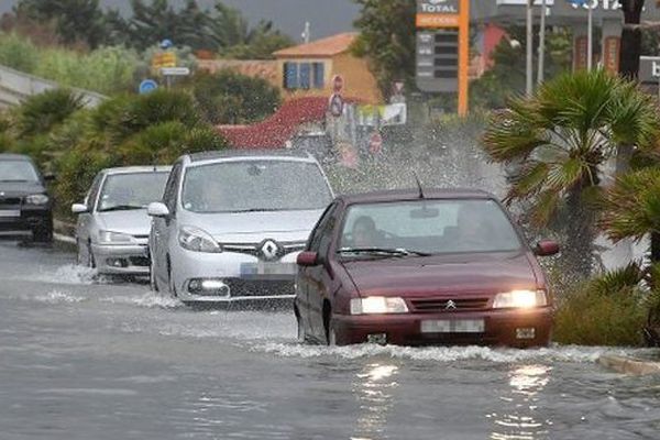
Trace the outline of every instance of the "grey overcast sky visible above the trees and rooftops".
{"label": "grey overcast sky visible above the trees and rooftops", "polygon": [[[7,12],[16,0],[0,0],[0,13]],[[129,0],[100,0],[103,7],[130,11]],[[305,21],[311,23],[312,38],[353,30],[353,20],[359,8],[352,0],[224,0],[226,4],[243,11],[251,22],[272,20],[278,29],[300,40]],[[170,0],[180,6],[184,0]],[[199,0],[202,7],[212,6],[215,0]]]}

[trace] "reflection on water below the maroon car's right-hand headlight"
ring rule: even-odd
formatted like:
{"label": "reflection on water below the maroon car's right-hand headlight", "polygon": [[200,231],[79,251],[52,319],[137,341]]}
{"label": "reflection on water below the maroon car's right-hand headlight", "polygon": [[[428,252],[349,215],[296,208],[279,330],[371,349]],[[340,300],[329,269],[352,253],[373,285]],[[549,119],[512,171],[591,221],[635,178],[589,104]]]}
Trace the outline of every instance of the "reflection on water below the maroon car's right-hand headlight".
{"label": "reflection on water below the maroon car's right-hand headlight", "polygon": [[538,420],[538,395],[548,384],[552,367],[547,365],[515,366],[509,373],[509,393],[503,395],[503,413],[493,413],[486,417],[493,420],[495,428],[493,440],[537,440],[548,437],[550,420]]}

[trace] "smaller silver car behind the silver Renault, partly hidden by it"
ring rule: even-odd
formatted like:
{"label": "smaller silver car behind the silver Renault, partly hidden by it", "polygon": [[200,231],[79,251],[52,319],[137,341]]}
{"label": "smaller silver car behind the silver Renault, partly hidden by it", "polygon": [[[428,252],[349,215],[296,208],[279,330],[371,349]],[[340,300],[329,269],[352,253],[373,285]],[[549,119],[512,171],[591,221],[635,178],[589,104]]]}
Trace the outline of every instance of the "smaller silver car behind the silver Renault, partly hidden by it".
{"label": "smaller silver car behind the silver Renault, partly hidden by it", "polygon": [[100,172],[78,215],[78,264],[99,274],[148,275],[150,202],[163,197],[169,166],[131,166]]}

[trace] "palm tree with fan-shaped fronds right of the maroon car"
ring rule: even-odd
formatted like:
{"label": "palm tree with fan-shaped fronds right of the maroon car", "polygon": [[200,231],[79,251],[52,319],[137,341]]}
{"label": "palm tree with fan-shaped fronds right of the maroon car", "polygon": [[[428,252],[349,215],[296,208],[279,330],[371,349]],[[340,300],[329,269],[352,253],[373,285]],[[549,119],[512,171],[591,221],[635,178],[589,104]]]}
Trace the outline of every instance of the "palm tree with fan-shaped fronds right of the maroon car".
{"label": "palm tree with fan-shaped fronds right of the maroon car", "polygon": [[483,142],[493,161],[519,164],[506,200],[529,202],[537,227],[556,220],[565,230],[566,266],[587,277],[596,235],[596,206],[590,201],[598,199],[603,165],[618,145],[651,145],[659,130],[650,97],[594,70],[563,74],[531,98],[512,99]]}

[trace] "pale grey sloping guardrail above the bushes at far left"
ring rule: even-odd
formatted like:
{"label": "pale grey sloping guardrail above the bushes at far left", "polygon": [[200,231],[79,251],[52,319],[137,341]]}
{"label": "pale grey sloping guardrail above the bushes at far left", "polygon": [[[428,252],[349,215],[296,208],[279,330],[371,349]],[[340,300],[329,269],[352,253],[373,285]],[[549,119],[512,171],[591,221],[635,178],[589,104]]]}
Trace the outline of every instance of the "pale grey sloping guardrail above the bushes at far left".
{"label": "pale grey sloping guardrail above the bushes at far left", "polygon": [[[46,90],[59,88],[57,82],[34,75],[0,66],[0,107],[18,106],[26,98]],[[105,95],[69,87],[81,97],[85,107],[97,107],[107,99]]]}

